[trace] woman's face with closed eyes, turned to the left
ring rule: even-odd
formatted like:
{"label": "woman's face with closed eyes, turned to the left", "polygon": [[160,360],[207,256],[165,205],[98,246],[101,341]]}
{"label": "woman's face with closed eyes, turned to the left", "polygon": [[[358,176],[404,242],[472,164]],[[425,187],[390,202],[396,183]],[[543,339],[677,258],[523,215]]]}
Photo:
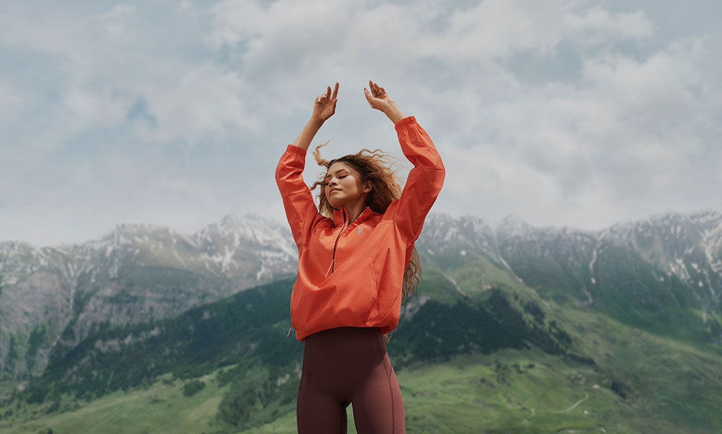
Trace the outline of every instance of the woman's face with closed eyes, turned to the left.
{"label": "woman's face with closed eyes, turned to the left", "polygon": [[359,201],[365,202],[367,193],[371,191],[370,182],[362,183],[361,174],[345,161],[331,164],[324,182],[326,184],[323,192],[329,204],[335,209],[341,209],[343,206],[351,208]]}

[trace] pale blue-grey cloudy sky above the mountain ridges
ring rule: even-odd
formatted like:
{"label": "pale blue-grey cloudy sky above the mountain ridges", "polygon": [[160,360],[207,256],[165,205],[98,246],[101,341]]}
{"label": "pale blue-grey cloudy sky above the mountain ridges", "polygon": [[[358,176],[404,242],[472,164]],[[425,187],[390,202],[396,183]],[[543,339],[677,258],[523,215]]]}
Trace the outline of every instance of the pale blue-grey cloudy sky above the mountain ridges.
{"label": "pale blue-grey cloudy sky above the mountain ridges", "polygon": [[716,0],[4,1],[0,240],[282,221],[274,168],[327,85],[325,156],[403,159],[369,79],[434,139],[435,211],[583,229],[722,211],[721,17]]}

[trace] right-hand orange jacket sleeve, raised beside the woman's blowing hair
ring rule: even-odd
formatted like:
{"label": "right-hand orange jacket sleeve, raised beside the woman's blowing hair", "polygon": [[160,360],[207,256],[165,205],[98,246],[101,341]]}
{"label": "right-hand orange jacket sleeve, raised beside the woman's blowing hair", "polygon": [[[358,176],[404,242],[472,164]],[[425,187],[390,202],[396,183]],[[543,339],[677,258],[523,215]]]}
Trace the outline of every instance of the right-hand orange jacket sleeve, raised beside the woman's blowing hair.
{"label": "right-hand orange jacket sleeve, raised beside the woman's blowing hair", "polygon": [[388,206],[385,216],[393,219],[409,242],[414,242],[419,238],[424,219],[439,195],[445,169],[434,143],[414,116],[399,120],[395,126],[401,151],[414,168],[406,178],[401,197]]}

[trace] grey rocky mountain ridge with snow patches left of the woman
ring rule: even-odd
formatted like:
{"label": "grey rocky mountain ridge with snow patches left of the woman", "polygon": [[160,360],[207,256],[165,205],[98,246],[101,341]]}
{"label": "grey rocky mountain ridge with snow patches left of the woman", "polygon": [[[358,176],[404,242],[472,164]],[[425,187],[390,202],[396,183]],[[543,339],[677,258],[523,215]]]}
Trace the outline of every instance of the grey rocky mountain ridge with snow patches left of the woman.
{"label": "grey rocky mountain ridge with snow patches left of the woman", "polygon": [[[97,324],[175,316],[197,304],[292,275],[285,225],[231,214],[196,234],[123,223],[59,247],[0,243],[0,373],[42,372]],[[0,374],[2,375],[2,374]]]}

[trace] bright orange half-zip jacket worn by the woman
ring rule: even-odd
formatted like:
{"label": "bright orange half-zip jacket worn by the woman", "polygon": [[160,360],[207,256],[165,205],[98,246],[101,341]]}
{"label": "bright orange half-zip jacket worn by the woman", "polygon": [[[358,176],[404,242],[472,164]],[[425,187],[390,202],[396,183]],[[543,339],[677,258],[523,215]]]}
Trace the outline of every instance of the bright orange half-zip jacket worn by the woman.
{"label": "bright orange half-zip jacket worn by the woman", "polygon": [[386,333],[399,324],[404,270],[445,172],[416,118],[395,126],[414,169],[401,197],[383,214],[366,207],[350,223],[345,208],[335,210],[334,218],[322,216],[303,182],[306,151],[289,145],[279,161],[276,182],[298,247],[291,294],[297,340],[334,327],[380,327]]}

